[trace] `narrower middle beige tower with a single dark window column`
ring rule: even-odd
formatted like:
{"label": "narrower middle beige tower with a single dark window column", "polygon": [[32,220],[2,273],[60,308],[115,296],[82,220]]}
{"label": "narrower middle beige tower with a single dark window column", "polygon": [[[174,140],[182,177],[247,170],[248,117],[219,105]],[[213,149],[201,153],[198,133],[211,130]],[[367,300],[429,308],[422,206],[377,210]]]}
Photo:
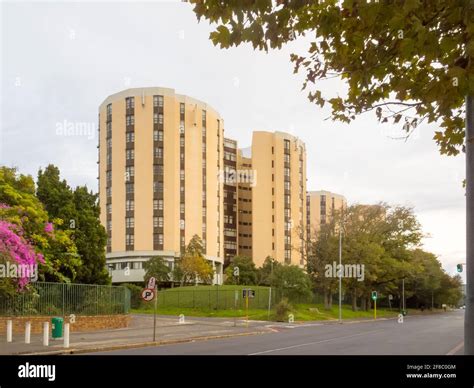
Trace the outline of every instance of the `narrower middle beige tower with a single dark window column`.
{"label": "narrower middle beige tower with a single dark window column", "polygon": [[252,258],[267,256],[303,265],[306,230],[306,150],[283,132],[257,131],[252,137]]}

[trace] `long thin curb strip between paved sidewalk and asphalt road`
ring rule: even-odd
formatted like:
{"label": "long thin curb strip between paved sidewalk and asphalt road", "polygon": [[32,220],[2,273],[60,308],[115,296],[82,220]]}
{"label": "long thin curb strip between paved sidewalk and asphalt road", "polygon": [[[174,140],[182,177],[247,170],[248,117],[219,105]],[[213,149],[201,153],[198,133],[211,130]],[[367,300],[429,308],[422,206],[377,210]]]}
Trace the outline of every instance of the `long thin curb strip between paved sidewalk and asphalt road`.
{"label": "long thin curb strip between paved sidewalk and asphalt road", "polygon": [[151,346],[164,346],[164,345],[174,345],[174,344],[181,344],[181,343],[188,343],[188,342],[195,342],[195,341],[207,341],[213,339],[225,339],[225,338],[233,338],[233,337],[245,337],[250,335],[260,335],[260,334],[269,334],[269,331],[252,331],[249,333],[236,333],[236,334],[222,334],[222,335],[214,335],[214,336],[197,336],[197,337],[189,337],[189,338],[182,338],[182,339],[171,339],[171,340],[163,340],[163,341],[147,341],[147,342],[136,342],[132,344],[122,344],[122,345],[110,345],[110,346],[98,346],[94,348],[73,348],[73,349],[61,349],[61,350],[53,350],[49,352],[34,352],[34,353],[15,353],[12,355],[17,356],[55,356],[55,355],[68,355],[68,354],[82,354],[82,353],[94,353],[94,352],[107,352],[113,350],[120,350],[120,349],[139,349]]}

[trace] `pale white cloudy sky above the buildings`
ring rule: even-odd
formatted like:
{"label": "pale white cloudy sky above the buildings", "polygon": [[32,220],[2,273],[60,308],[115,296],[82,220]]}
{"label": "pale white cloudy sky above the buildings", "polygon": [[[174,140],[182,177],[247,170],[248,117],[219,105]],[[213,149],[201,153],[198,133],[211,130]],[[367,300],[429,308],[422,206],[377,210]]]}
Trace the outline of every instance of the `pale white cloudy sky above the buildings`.
{"label": "pale white cloudy sky above the buildings", "polygon": [[[201,99],[225,119],[226,136],[250,145],[253,130],[291,132],[307,145],[308,189],[349,202],[410,205],[428,238],[425,248],[455,272],[465,261],[464,157],[441,157],[435,126],[407,142],[371,114],[350,125],[324,120],[293,74],[291,52],[250,46],[220,50],[211,27],[177,2],[2,2],[0,163],[36,175],[58,165],[72,184],[97,188],[97,136],[65,137],[57,123],[96,126],[108,95],[128,87],[164,86]],[[339,80],[323,85],[343,90]]]}

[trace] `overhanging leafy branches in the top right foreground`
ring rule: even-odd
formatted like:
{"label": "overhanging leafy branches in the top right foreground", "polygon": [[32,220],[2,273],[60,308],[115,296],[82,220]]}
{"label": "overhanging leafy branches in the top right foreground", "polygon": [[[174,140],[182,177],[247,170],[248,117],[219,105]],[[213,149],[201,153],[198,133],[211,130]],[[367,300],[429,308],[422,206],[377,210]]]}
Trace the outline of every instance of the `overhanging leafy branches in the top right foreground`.
{"label": "overhanging leafy branches in the top right foreground", "polygon": [[[308,52],[291,60],[305,74],[308,98],[329,104],[333,120],[373,111],[407,135],[422,121],[439,122],[441,153],[463,148],[463,102],[474,94],[472,1],[191,2],[198,19],[217,25],[210,39],[221,48],[248,42],[269,50],[309,38]],[[334,77],[345,81],[344,96],[323,93],[321,81]]]}

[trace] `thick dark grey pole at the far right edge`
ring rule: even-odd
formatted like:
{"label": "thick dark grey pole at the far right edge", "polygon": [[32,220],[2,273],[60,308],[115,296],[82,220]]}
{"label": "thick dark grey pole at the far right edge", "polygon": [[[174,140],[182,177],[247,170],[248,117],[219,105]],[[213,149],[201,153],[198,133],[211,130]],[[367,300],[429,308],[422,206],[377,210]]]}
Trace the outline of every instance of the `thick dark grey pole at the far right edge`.
{"label": "thick dark grey pole at the far right edge", "polygon": [[474,355],[474,96],[466,97],[466,312],[464,354]]}

